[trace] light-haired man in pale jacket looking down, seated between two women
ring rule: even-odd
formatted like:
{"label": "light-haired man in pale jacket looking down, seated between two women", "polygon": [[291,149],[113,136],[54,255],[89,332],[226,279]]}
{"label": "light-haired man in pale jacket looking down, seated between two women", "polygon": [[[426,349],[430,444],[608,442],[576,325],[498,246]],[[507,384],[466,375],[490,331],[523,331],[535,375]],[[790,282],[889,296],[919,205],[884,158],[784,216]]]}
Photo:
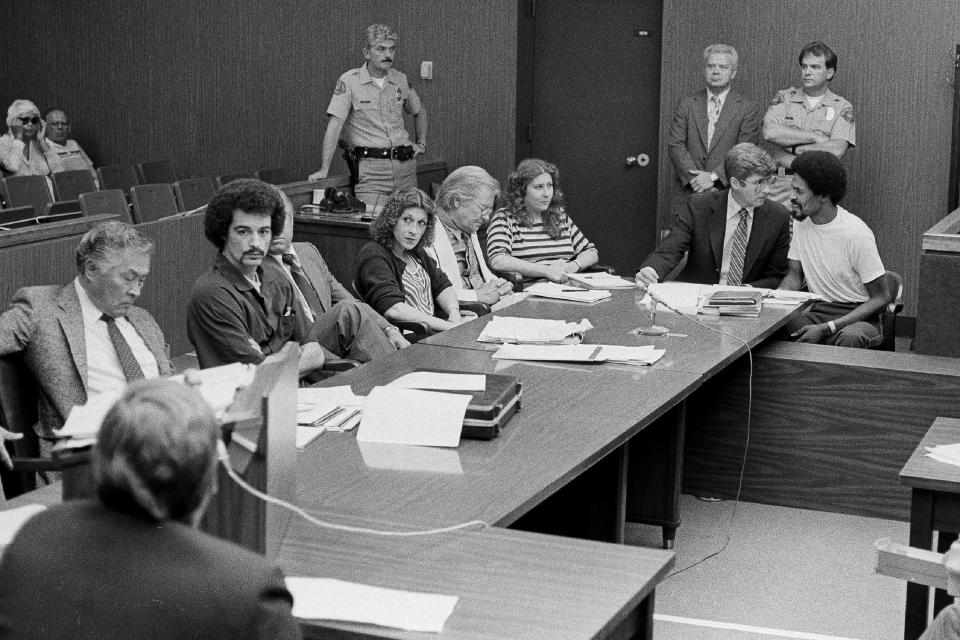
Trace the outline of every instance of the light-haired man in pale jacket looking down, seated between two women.
{"label": "light-haired man in pale jacket looking down, seated between two women", "polygon": [[437,226],[428,253],[450,279],[461,302],[495,305],[513,286],[487,267],[477,230],[500,196],[500,183],[480,167],[460,167],[437,192]]}

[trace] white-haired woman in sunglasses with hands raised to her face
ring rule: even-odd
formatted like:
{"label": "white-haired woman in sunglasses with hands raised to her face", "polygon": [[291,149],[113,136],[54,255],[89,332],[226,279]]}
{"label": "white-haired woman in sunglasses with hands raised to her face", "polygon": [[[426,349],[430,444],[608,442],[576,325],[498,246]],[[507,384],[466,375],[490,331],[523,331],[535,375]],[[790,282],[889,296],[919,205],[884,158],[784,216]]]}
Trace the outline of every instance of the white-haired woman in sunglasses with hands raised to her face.
{"label": "white-haired woman in sunglasses with hands raised to her face", "polygon": [[7,133],[0,136],[0,165],[15,176],[49,176],[58,170],[43,137],[40,110],[29,100],[14,100],[7,109]]}

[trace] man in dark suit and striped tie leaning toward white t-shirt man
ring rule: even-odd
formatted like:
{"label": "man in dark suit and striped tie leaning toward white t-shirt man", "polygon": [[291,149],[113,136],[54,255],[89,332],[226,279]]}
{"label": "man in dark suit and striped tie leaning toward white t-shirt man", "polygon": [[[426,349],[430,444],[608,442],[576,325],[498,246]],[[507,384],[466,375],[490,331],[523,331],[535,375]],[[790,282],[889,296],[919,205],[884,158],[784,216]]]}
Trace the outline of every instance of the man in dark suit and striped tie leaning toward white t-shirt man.
{"label": "man in dark suit and striped tie leaning toward white t-shirt man", "polygon": [[787,272],[790,214],[766,199],[776,168],[766,151],[743,142],[724,158],[730,188],[693,196],[637,278],[660,281],[680,264],[685,282],[775,288]]}

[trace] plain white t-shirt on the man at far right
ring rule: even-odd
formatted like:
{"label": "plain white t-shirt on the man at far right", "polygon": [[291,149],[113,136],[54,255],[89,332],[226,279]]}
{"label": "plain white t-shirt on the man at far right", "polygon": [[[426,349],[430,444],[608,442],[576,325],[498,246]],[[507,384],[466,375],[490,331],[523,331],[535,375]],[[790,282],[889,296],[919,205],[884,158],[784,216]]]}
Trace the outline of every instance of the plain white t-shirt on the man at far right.
{"label": "plain white t-shirt on the man at far right", "polygon": [[863,283],[884,274],[877,241],[866,223],[843,207],[826,224],[794,224],[790,260],[799,260],[807,287],[829,302],[865,302]]}

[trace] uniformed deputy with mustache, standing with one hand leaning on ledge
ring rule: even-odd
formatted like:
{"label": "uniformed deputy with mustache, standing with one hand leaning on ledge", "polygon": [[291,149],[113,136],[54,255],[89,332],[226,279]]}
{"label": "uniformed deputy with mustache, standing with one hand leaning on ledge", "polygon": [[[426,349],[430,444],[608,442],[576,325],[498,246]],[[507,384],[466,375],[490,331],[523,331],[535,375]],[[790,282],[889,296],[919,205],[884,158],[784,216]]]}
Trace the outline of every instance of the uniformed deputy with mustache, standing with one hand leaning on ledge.
{"label": "uniformed deputy with mustache, standing with one hand leaning on ledge", "polygon": [[[363,56],[367,62],[340,76],[327,107],[330,120],[323,137],[320,170],[310,180],[326,178],[341,130],[359,162],[354,192],[377,207],[394,191],[417,186],[414,158],[427,148],[427,112],[407,76],[393,68],[397,33],[385,24],[367,27]],[[413,116],[416,143],[404,128],[403,113]]]}

